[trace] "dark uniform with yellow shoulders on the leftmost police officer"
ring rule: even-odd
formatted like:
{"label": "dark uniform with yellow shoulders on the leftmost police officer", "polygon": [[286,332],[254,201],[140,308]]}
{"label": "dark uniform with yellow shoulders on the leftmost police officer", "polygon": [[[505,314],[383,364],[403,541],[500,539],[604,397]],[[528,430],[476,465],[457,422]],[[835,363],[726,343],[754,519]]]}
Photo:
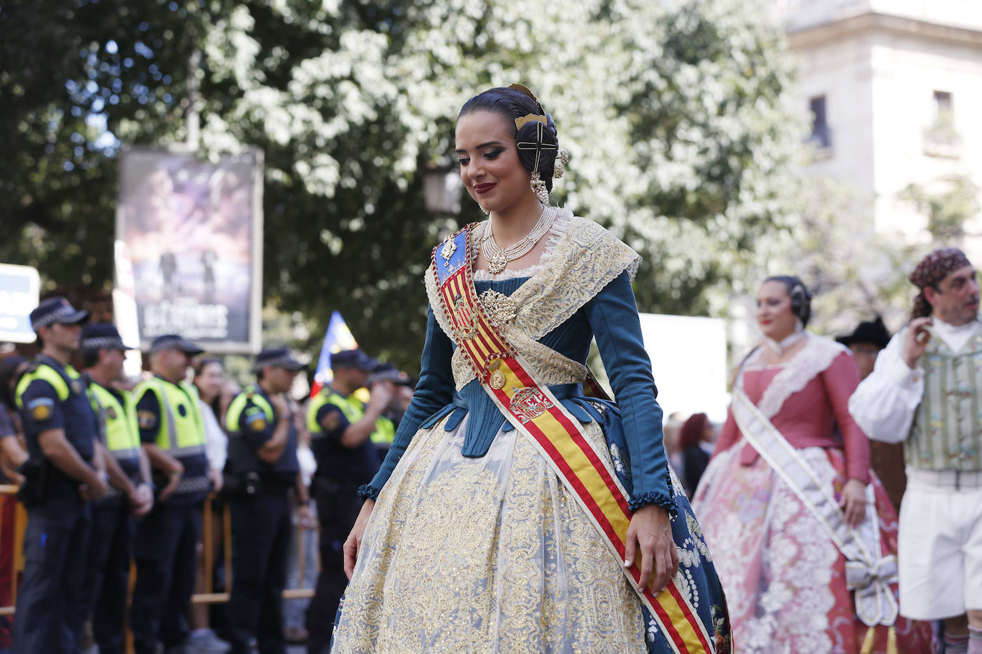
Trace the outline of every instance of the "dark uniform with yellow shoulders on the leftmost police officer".
{"label": "dark uniform with yellow shoulders on the leftmost police officer", "polygon": [[[68,395],[45,379],[39,368],[61,377]],[[71,372],[70,372],[71,371]],[[97,428],[81,376],[41,355],[18,384],[18,408],[29,457],[22,500],[27,507],[24,577],[14,621],[15,651],[25,654],[75,652],[80,625],[77,605],[85,570],[91,507],[71,478],[41,452],[38,435],[64,429],[65,438],[91,464]]]}

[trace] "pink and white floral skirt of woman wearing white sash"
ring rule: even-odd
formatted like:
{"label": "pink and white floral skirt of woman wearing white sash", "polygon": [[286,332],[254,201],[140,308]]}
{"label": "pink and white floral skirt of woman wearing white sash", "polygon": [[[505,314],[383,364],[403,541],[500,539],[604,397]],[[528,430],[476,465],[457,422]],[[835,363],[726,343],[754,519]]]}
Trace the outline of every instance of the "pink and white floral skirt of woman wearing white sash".
{"label": "pink and white floral skirt of woman wearing white sash", "polygon": [[[730,607],[742,654],[859,654],[867,627],[846,588],[846,560],[791,488],[766,461],[740,463],[746,441],[713,458],[692,508],[702,525]],[[842,450],[798,450],[835,492],[846,483]],[[897,554],[897,512],[875,476],[883,555]],[[894,586],[896,594],[897,587]],[[898,618],[897,651],[929,654],[931,628]],[[872,654],[887,654],[888,629]]]}

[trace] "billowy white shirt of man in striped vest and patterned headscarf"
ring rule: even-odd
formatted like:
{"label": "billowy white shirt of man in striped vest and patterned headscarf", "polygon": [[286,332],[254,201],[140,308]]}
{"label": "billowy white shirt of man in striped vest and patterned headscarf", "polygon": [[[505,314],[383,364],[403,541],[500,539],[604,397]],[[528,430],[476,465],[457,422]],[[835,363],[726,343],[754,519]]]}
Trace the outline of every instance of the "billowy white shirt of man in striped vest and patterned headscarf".
{"label": "billowy white shirt of man in striped vest and patterned headscarf", "polygon": [[[929,328],[932,338],[941,338],[953,352],[958,352],[976,327],[975,321],[955,327],[935,318]],[[924,396],[924,372],[920,368],[908,368],[903,361],[906,332],[904,327],[890,339],[887,348],[877,356],[873,372],[859,382],[849,398],[849,413],[873,440],[887,443],[906,440]]]}

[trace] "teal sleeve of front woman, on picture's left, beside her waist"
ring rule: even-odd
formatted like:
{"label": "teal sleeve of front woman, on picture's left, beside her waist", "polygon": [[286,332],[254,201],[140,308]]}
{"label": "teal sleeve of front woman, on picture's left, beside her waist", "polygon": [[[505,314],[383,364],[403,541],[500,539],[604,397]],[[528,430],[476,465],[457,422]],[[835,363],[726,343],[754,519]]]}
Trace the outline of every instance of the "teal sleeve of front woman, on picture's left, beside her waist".
{"label": "teal sleeve of front woman, on picture's left, beside her waist", "polygon": [[382,467],[371,482],[358,488],[358,497],[377,498],[419,426],[427,418],[453,402],[455,385],[450,363],[453,354],[453,344],[443,329],[437,325],[433,308],[430,307],[426,312],[426,341],[423,344],[420,361],[419,381],[412,394],[412,401],[409,402],[409,408],[399,423],[399,430],[396,431],[395,440],[385,456],[385,461],[382,462]]}

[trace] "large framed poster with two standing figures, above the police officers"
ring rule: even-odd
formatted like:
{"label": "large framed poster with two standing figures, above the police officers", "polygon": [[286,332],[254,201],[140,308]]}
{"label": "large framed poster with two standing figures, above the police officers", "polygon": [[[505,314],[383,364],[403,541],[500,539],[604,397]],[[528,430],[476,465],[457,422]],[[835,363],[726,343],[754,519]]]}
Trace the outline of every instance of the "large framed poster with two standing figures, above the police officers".
{"label": "large framed poster with two standing figures, above the police officers", "polygon": [[180,333],[209,352],[257,352],[262,308],[262,155],[206,161],[130,148],[117,238],[129,250],[143,349]]}

